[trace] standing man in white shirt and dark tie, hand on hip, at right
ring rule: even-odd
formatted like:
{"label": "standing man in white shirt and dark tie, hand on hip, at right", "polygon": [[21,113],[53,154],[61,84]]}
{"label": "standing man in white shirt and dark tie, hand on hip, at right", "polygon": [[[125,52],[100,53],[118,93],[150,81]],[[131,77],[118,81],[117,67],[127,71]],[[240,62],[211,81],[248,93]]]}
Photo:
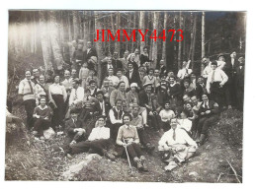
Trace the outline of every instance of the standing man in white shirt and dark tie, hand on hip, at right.
{"label": "standing man in white shirt and dark tie, hand on hip, at right", "polygon": [[211,99],[218,103],[219,108],[223,106],[223,86],[227,82],[227,75],[221,70],[216,69],[216,61],[212,61],[212,72],[208,76],[207,80],[207,92],[210,94]]}

